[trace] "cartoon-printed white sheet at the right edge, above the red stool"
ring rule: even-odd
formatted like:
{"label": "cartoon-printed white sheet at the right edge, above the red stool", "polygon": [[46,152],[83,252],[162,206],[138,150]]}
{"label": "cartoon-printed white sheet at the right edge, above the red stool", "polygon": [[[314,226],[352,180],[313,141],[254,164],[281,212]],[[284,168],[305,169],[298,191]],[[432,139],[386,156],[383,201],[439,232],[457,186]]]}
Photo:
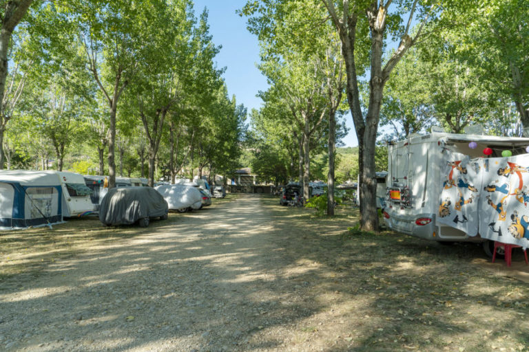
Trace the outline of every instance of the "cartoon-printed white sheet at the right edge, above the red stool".
{"label": "cartoon-printed white sheet at the right edge, above the red stool", "polygon": [[479,234],[529,246],[529,155],[483,159]]}

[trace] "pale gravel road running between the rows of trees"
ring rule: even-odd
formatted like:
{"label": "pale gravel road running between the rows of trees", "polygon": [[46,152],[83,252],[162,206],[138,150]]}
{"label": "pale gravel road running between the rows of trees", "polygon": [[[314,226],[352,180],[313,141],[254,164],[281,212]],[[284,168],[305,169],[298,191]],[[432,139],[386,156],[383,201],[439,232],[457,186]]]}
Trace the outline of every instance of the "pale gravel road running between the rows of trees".
{"label": "pale gravel road running between the rows of trees", "polygon": [[284,253],[287,234],[258,197],[172,219],[10,279],[0,291],[0,350],[324,349],[298,334],[314,318],[311,283],[296,279],[304,264]]}

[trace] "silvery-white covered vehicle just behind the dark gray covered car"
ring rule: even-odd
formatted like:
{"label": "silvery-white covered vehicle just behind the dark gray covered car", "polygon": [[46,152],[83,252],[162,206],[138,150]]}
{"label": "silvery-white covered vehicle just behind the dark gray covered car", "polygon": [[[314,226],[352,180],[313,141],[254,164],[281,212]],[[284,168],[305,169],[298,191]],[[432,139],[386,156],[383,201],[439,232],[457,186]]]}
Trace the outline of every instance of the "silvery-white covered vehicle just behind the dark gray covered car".
{"label": "silvery-white covered vehicle just behind the dark gray covered car", "polygon": [[202,207],[202,195],[197,187],[184,184],[163,184],[154,189],[167,201],[171,210],[186,212]]}

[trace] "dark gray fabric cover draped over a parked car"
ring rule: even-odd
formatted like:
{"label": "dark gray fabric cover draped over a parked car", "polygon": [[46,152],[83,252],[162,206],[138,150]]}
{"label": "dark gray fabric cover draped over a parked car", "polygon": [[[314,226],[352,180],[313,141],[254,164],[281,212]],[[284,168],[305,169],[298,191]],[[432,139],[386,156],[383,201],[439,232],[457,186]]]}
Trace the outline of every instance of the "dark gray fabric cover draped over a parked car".
{"label": "dark gray fabric cover draped over a parked car", "polygon": [[110,189],[99,208],[99,220],[105,225],[135,223],[145,217],[167,214],[167,202],[150,187]]}

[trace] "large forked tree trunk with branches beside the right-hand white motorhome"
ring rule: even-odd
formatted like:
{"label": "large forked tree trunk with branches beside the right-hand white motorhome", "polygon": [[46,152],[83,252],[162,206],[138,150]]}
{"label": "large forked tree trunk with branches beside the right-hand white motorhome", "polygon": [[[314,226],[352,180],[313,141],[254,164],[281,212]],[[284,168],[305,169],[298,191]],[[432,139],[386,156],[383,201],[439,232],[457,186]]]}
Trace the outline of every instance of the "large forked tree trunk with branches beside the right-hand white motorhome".
{"label": "large forked tree trunk with branches beside the right-hand white motorhome", "polygon": [[[417,42],[422,28],[431,15],[432,7],[424,7],[423,2],[395,1],[395,14],[389,14],[393,3],[388,1],[349,1],[321,0],[335,29],[342,41],[342,54],[347,73],[347,100],[359,146],[360,163],[360,227],[362,230],[378,231],[375,181],[375,142],[377,139],[380,107],[382,104],[384,85],[390,74],[406,54],[408,49]],[[411,25],[419,12],[419,25],[413,38]],[[400,25],[401,16],[407,18],[404,26]],[[369,103],[367,111],[361,109],[360,89],[357,72],[355,50],[357,44],[365,40],[369,30],[369,55],[371,57],[369,79]],[[390,36],[399,36],[397,50],[383,63],[384,40]],[[362,38],[362,36],[364,36]]]}

